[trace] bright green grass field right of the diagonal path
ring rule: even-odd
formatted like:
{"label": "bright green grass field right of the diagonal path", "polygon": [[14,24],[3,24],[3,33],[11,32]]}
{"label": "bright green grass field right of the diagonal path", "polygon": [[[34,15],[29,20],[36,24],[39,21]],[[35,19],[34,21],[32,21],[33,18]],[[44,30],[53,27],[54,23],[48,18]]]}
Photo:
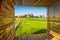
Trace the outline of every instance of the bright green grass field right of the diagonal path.
{"label": "bright green grass field right of the diagonal path", "polygon": [[46,18],[23,18],[15,30],[15,36],[45,33],[46,28]]}

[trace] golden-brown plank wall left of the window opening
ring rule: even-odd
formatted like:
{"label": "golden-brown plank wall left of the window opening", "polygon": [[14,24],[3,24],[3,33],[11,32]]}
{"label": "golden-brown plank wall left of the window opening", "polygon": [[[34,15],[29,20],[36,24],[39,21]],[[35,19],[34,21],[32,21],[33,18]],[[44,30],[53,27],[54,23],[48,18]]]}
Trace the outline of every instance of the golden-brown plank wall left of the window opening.
{"label": "golden-brown plank wall left of the window opening", "polygon": [[0,40],[14,39],[13,0],[0,0]]}

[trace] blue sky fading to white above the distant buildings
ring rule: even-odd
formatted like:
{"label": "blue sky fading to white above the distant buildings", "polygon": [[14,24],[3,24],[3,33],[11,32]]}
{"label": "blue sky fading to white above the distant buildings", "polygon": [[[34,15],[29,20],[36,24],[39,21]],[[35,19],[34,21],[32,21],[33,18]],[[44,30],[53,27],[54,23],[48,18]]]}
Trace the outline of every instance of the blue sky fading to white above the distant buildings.
{"label": "blue sky fading to white above the distant buildings", "polygon": [[14,6],[15,16],[23,16],[25,14],[33,14],[34,16],[45,15],[47,16],[46,7],[34,7],[34,6]]}

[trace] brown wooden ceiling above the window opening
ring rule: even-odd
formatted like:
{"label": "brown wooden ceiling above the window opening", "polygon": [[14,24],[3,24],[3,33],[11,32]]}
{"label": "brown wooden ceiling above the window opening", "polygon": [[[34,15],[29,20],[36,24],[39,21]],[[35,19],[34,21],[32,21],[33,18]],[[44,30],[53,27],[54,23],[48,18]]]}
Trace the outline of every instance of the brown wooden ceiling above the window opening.
{"label": "brown wooden ceiling above the window opening", "polygon": [[59,0],[14,0],[15,5],[50,6]]}

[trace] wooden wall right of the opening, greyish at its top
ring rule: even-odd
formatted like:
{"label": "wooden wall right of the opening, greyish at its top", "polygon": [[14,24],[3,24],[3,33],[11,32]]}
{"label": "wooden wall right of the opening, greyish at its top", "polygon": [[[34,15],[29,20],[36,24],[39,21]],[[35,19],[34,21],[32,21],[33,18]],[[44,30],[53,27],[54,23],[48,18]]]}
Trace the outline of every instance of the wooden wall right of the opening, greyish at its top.
{"label": "wooden wall right of the opening, greyish at its top", "polygon": [[60,2],[49,7],[48,15],[50,34],[60,40]]}

